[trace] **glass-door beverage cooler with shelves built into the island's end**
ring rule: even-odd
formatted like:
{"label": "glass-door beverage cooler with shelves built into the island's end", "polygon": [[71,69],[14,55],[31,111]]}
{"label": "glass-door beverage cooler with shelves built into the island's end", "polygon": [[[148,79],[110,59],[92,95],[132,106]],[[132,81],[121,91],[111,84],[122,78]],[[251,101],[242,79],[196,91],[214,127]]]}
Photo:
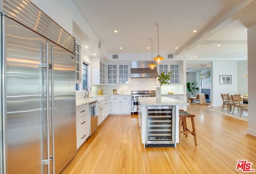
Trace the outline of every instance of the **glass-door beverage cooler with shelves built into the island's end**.
{"label": "glass-door beverage cooler with shelves built into the island's end", "polygon": [[174,146],[175,107],[146,107],[145,146]]}

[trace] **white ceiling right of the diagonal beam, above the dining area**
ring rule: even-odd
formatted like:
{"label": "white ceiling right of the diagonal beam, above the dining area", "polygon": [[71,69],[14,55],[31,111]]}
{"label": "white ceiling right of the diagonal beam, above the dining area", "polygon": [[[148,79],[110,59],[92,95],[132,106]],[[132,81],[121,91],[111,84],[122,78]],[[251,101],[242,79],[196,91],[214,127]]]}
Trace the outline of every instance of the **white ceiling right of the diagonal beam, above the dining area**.
{"label": "white ceiling right of the diagonal beam, above the dining area", "polygon": [[189,60],[246,60],[247,28],[236,20],[188,51],[186,57]]}

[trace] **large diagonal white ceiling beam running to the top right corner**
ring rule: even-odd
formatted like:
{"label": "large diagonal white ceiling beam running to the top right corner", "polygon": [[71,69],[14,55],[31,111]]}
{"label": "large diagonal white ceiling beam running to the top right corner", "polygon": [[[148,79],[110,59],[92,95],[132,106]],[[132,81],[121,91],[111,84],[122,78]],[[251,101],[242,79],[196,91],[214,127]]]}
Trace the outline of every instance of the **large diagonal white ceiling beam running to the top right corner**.
{"label": "large diagonal white ceiling beam running to the top right corner", "polygon": [[222,30],[232,22],[234,22],[234,16],[242,10],[245,6],[250,4],[253,0],[243,0],[238,4],[235,8],[230,10],[228,13],[226,13],[224,16],[221,16],[218,18],[215,22],[207,25],[203,30],[201,30],[196,36],[194,36],[191,40],[189,40],[187,43],[185,43],[180,49],[178,49],[174,55],[183,55],[192,48],[196,47],[196,45],[199,45],[203,43],[206,39],[210,38],[210,36],[213,36],[218,31]]}

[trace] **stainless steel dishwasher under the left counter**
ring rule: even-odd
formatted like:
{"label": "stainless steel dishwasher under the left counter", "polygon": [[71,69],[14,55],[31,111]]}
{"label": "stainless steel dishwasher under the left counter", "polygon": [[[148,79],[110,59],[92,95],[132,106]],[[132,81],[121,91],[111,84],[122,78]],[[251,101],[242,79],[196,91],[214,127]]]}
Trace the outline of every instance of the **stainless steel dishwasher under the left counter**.
{"label": "stainless steel dishwasher under the left counter", "polygon": [[99,103],[89,104],[90,136],[98,129]]}

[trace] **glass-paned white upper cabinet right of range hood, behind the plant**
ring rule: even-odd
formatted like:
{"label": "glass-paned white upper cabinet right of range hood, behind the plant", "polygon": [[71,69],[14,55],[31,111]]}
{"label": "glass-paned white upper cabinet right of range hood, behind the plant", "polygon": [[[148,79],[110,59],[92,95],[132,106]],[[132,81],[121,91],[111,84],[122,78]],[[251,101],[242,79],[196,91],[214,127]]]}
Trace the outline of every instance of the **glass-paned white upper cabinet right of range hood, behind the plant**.
{"label": "glass-paned white upper cabinet right of range hood, behind the plant", "polygon": [[168,81],[169,83],[179,84],[180,83],[180,64],[174,63],[161,63],[158,65],[158,73],[167,74],[168,71],[172,72],[171,79]]}

